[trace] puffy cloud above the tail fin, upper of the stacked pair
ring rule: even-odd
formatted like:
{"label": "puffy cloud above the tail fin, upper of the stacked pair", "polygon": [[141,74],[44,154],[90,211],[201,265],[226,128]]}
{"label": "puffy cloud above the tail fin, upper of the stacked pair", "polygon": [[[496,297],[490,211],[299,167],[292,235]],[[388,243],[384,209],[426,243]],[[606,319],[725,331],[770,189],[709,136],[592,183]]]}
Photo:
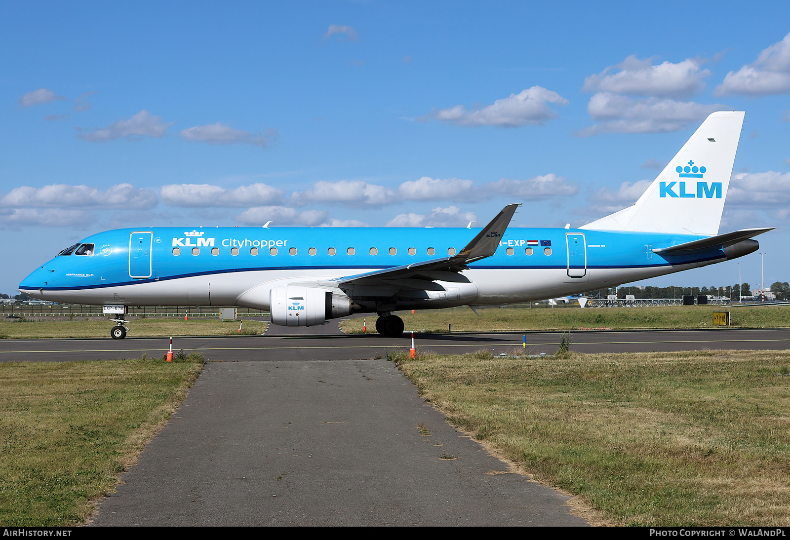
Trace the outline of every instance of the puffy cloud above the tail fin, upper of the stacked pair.
{"label": "puffy cloud above the tail fin, upper of the stacked pair", "polygon": [[585,78],[585,92],[614,92],[632,96],[682,98],[705,88],[703,79],[708,69],[700,69],[703,61],[687,58],[683,62],[662,62],[653,66],[652,58],[639,60],[634,55],[623,63],[609,66]]}

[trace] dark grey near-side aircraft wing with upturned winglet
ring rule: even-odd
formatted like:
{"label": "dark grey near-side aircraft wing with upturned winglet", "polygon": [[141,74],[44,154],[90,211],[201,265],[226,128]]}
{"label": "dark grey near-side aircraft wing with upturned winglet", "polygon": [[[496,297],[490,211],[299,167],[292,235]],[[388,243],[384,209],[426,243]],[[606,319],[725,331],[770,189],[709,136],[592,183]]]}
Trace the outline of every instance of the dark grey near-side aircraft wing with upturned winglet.
{"label": "dark grey near-side aircraft wing with upturned winglet", "polygon": [[386,268],[356,276],[346,276],[337,279],[337,285],[344,291],[360,286],[373,286],[381,288],[382,295],[391,296],[392,294],[385,294],[384,291],[401,288],[418,291],[444,291],[444,287],[434,283],[435,279],[468,283],[468,278],[460,272],[469,268],[467,264],[491,257],[491,255],[496,253],[499,241],[502,240],[502,234],[505,233],[517,207],[518,204],[508,204],[505,208],[502,208],[502,212],[499,212],[491,220],[491,223],[483,227],[480,233],[475,238],[472,238],[472,242],[469,242],[456,255],[431,259],[431,261],[405,264],[404,266]]}

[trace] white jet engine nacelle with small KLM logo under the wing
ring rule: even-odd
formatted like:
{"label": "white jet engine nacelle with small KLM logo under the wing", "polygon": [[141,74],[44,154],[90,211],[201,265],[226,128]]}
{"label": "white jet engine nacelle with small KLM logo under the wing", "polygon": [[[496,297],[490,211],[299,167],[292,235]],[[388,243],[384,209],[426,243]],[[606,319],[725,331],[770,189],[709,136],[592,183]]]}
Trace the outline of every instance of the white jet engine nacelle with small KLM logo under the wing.
{"label": "white jet engine nacelle with small KLM logo under the wing", "polygon": [[272,322],[280,326],[313,326],[351,313],[351,298],[318,287],[284,285],[269,292]]}

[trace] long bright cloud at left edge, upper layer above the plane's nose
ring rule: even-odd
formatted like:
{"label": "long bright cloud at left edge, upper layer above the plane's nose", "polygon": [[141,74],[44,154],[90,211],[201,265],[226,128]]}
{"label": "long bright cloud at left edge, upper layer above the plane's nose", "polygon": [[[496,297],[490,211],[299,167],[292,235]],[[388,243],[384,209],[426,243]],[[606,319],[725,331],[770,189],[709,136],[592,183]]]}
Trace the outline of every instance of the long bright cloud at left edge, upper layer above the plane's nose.
{"label": "long bright cloud at left edge, upper layer above the plane's nose", "polygon": [[102,191],[88,186],[50,184],[40,188],[20,186],[0,198],[0,208],[99,207],[147,210],[156,206],[156,194],[131,184]]}

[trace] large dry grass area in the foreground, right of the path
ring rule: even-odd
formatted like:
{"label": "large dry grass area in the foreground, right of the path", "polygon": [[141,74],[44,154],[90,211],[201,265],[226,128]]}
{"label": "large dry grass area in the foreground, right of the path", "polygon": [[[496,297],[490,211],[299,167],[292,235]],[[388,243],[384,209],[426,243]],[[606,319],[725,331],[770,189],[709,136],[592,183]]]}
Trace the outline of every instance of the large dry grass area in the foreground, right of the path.
{"label": "large dry grass area in the foreground, right of the path", "polygon": [[608,523],[790,525],[788,351],[393,359],[453,425]]}

